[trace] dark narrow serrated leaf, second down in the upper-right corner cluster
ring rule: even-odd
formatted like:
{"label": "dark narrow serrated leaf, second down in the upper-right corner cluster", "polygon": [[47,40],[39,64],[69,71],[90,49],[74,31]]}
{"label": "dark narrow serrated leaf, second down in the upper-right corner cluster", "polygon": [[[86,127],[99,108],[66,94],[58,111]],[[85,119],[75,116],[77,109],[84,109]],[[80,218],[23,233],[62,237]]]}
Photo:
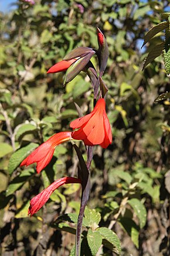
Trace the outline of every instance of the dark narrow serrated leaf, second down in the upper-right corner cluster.
{"label": "dark narrow serrated leaf, second down in the upper-right corner cluster", "polygon": [[159,55],[162,54],[164,50],[164,43],[161,43],[159,45],[155,45],[154,48],[149,52],[147,58],[145,58],[144,66],[142,70],[144,70],[145,67],[152,61],[154,61],[155,58],[157,58]]}

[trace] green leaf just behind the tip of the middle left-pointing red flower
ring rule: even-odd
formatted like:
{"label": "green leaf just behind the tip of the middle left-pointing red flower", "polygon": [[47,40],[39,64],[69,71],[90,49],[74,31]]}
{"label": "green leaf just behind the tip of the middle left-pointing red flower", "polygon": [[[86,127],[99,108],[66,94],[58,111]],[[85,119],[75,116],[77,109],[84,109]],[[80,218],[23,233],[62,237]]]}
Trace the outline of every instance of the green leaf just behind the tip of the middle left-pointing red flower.
{"label": "green leaf just behind the tip of the middle left-pointing red flower", "polygon": [[37,148],[38,146],[39,145],[36,143],[30,143],[29,145],[18,149],[18,151],[15,151],[9,159],[9,174],[12,174],[12,172],[19,166],[19,164],[21,164],[23,159],[25,159],[30,154],[30,152],[32,152],[33,149]]}

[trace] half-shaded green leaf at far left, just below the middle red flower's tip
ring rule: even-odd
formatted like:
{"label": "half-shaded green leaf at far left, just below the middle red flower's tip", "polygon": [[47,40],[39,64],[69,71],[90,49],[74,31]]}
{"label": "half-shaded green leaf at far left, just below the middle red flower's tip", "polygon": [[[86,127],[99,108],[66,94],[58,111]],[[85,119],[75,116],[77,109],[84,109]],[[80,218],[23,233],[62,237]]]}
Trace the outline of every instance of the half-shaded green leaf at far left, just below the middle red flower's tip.
{"label": "half-shaded green leaf at far left, just below the middle red flower's tip", "polygon": [[26,169],[21,174],[14,178],[6,189],[6,197],[12,195],[16,190],[22,187],[35,174],[34,169]]}

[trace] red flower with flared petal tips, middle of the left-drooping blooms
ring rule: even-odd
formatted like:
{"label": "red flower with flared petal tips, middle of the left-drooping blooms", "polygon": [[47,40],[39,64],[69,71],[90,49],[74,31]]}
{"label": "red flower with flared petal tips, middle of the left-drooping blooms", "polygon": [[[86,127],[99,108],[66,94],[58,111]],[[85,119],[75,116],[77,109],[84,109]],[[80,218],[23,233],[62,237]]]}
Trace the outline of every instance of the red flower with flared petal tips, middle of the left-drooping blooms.
{"label": "red flower with flared petal tips, middle of the left-drooping blooms", "polygon": [[72,138],[72,132],[59,132],[35,149],[27,158],[25,158],[20,166],[37,163],[36,171],[39,173],[49,164],[53,157],[53,153],[57,145],[69,141]]}

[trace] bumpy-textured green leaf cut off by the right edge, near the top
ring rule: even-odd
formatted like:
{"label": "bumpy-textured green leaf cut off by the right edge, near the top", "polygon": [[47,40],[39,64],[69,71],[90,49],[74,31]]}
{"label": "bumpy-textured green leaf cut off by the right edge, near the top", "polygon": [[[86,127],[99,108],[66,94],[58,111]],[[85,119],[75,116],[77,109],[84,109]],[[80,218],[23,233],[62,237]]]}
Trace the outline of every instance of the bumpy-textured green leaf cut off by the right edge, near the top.
{"label": "bumpy-textured green leaf cut off by the right edge, near the top", "polygon": [[166,69],[166,74],[170,73],[170,32],[169,29],[165,31],[165,48],[164,48],[164,64]]}

